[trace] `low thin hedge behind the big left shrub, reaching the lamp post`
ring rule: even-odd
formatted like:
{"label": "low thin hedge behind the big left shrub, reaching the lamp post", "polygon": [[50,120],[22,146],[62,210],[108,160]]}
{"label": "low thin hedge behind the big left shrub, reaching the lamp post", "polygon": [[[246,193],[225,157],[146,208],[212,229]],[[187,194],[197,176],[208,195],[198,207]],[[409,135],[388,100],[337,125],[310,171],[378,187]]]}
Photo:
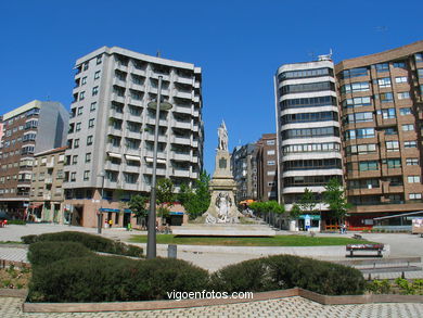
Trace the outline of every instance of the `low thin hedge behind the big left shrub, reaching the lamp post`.
{"label": "low thin hedge behind the big left shrub, reaching the lamp post", "polygon": [[44,233],[40,236],[26,236],[22,238],[22,241],[25,244],[31,244],[39,241],[79,242],[91,251],[134,257],[141,257],[143,253],[142,247],[116,242],[100,236],[76,231]]}

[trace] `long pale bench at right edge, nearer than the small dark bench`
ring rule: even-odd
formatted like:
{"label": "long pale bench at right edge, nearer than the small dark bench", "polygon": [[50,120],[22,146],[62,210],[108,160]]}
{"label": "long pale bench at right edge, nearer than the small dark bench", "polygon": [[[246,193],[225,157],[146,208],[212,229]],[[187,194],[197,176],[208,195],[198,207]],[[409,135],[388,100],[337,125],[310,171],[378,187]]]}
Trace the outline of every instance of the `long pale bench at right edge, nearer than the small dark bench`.
{"label": "long pale bench at right edge, nearer than the small dark bench", "polygon": [[363,275],[368,274],[370,280],[373,274],[381,272],[401,272],[401,277],[406,277],[406,271],[422,270],[421,266],[411,264],[421,264],[422,258],[420,256],[413,257],[394,257],[394,258],[376,258],[376,259],[354,259],[354,260],[339,260],[336,264],[355,267]]}

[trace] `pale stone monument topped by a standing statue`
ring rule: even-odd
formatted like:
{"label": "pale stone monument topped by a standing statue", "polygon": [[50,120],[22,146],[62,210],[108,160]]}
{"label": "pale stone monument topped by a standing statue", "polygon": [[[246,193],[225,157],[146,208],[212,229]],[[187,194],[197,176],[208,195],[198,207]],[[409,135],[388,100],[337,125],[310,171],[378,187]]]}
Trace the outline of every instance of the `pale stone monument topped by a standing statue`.
{"label": "pale stone monument topped by a standing statue", "polygon": [[233,180],[230,154],[228,151],[228,130],[225,122],[217,130],[218,148],[215,160],[215,173],[209,183],[211,201],[204,213],[206,224],[235,224],[242,214],[238,211],[234,191],[236,183]]}

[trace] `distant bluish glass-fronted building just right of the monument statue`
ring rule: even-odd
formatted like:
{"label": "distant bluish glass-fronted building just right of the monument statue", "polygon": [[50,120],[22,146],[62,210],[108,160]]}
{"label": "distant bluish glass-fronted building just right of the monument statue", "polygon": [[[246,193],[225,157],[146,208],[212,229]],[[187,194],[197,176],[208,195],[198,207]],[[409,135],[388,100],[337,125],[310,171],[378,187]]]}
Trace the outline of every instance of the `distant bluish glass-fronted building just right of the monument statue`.
{"label": "distant bluish glass-fronted building just right of the monument statue", "polygon": [[231,154],[233,179],[236,182],[235,200],[257,200],[256,144],[238,145]]}

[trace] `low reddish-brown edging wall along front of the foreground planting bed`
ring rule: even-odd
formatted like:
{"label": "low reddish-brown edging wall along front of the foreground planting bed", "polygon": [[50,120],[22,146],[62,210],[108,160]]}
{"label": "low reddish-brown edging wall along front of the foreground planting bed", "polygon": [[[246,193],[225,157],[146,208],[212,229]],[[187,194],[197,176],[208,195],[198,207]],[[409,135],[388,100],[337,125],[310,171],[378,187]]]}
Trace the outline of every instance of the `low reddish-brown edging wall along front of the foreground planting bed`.
{"label": "low reddish-brown edging wall along front of the foreground planting bed", "polygon": [[326,296],[307,290],[294,288],[282,291],[254,293],[253,300],[183,300],[183,301],[149,301],[121,303],[24,303],[24,313],[91,313],[91,311],[133,311],[171,308],[189,308],[226,304],[249,303],[302,296],[322,305],[347,305],[371,303],[423,303],[419,295],[346,295]]}

